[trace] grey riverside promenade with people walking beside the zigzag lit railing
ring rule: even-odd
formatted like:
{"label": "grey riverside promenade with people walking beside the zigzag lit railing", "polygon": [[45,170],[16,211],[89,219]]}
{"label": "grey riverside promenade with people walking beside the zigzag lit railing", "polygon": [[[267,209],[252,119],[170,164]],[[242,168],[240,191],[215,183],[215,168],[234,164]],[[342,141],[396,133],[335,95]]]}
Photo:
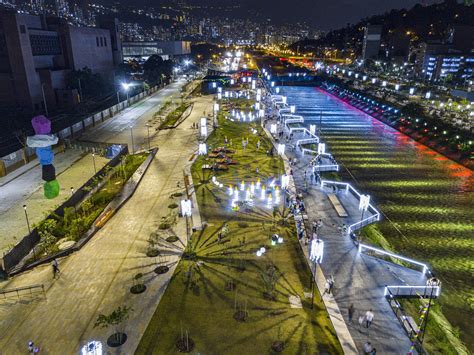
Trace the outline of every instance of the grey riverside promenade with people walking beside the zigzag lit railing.
{"label": "grey riverside promenade with people walking beside the zigzag lit railing", "polygon": [[[285,155],[288,159],[297,159],[297,164],[292,165],[291,169],[296,189],[304,198],[308,216],[305,221],[307,232],[311,233],[308,227],[313,222],[322,219],[324,223],[319,231],[320,238],[324,241],[324,259],[320,267],[323,273],[317,275],[319,290],[324,289],[327,277],[334,276],[334,300],[360,353],[363,353],[363,346],[367,341],[381,354],[407,353],[411,341],[386,301],[384,288],[386,285],[425,285],[425,276],[419,271],[359,253],[349,236],[341,233],[343,224],[349,225],[360,220],[357,203],[345,196],[344,192],[337,193],[348,212],[348,217],[340,217],[329,202],[327,195],[330,191],[324,191],[320,185],[305,182],[304,171],[308,169],[310,157],[302,157],[294,150],[286,151]],[[308,247],[303,243],[302,241],[302,247],[308,257]],[[331,313],[330,307],[334,305],[331,304],[332,297],[328,298],[329,302],[325,300],[325,303]],[[355,314],[352,322],[349,322],[347,309],[351,304],[355,307]],[[358,318],[363,317],[369,309],[373,310],[375,317],[371,327],[367,329],[359,326]],[[337,329],[336,326],[335,328]]]}

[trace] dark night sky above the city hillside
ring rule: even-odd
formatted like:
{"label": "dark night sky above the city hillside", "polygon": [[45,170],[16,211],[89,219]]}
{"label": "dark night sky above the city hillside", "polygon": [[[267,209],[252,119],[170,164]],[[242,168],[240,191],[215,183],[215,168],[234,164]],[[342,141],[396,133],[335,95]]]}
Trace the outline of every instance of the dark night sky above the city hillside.
{"label": "dark night sky above the city hillside", "polygon": [[[150,0],[149,0],[150,1]],[[188,0],[191,4],[241,4],[277,22],[303,19],[321,29],[337,29],[390,9],[411,8],[421,0]],[[433,0],[427,0],[428,4]],[[438,1],[439,2],[439,1]]]}

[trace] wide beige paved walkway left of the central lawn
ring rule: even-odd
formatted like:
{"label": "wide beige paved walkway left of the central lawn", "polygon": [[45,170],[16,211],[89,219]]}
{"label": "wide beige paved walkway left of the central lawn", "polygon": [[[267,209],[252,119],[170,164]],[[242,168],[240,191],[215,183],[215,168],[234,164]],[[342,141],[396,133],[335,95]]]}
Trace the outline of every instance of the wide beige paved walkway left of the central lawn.
{"label": "wide beige paved walkway left of the central lawn", "polygon": [[[99,340],[104,353],[133,354],[186,243],[185,220],[179,218],[174,227],[180,238],[176,246],[168,245],[159,258],[145,255],[150,233],[170,211],[170,195],[183,191],[183,171],[197,149],[197,131],[190,126],[199,122],[204,110],[212,110],[212,98],[200,98],[194,107],[178,128],[157,134],[153,144],[160,149],[135,194],[82,250],[60,261],[59,279],[52,280],[51,266],[46,265],[1,285],[44,284],[47,297],[8,307],[0,304],[4,353],[23,353],[29,340],[48,354],[78,353],[87,341]],[[153,272],[160,262],[169,266],[168,273]],[[144,275],[147,290],[133,295],[129,288],[137,273]],[[115,330],[94,328],[94,323],[99,313],[124,305],[133,309],[124,323],[128,340],[119,350],[111,349],[105,343]]]}

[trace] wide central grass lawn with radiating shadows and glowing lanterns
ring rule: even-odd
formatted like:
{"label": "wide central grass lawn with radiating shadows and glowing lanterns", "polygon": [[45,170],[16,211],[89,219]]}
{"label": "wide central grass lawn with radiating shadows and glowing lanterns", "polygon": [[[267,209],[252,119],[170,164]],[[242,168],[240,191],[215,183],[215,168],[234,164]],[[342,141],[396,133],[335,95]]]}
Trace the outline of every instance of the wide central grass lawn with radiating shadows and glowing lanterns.
{"label": "wide central grass lawn with radiating shadows and glowing lanterns", "polygon": [[[235,104],[234,104],[235,108]],[[265,184],[270,176],[283,172],[282,161],[267,155],[271,144],[258,124],[226,121],[229,106],[223,104],[219,128],[209,137],[209,150],[223,146],[225,137],[235,150],[238,165],[215,173],[226,185],[247,183],[260,177]],[[253,134],[250,127],[257,129]],[[242,140],[248,138],[244,151]],[[257,141],[260,149],[256,149]],[[192,174],[199,209],[207,227],[195,232],[173,275],[136,351],[137,354],[177,353],[176,342],[188,334],[194,343],[192,353],[268,354],[274,342],[284,342],[285,354],[340,354],[341,346],[329,316],[315,296],[314,310],[304,292],[310,292],[311,273],[296,239],[294,223],[287,225],[280,207],[263,204],[234,212],[225,191],[211,182],[213,173],[201,170],[212,159],[199,157]],[[256,172],[256,168],[259,172]],[[224,189],[225,190],[225,189]],[[228,233],[217,241],[224,225]],[[277,233],[283,244],[271,245]],[[256,256],[265,246],[267,251]],[[273,280],[273,281],[272,281]],[[271,299],[273,296],[273,300]],[[302,308],[291,308],[290,296],[298,296]],[[240,311],[245,320],[236,320]]]}

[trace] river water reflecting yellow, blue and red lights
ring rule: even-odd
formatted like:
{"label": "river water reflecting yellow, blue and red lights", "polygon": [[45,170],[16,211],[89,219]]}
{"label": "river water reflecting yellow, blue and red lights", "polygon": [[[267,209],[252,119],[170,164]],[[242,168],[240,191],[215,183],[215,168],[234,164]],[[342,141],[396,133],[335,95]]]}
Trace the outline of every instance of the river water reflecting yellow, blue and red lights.
{"label": "river water reflecting yellow, blue and red lights", "polygon": [[443,313],[474,349],[474,174],[395,129],[311,87],[280,88],[343,165],[344,181],[371,195],[394,249],[431,265]]}

